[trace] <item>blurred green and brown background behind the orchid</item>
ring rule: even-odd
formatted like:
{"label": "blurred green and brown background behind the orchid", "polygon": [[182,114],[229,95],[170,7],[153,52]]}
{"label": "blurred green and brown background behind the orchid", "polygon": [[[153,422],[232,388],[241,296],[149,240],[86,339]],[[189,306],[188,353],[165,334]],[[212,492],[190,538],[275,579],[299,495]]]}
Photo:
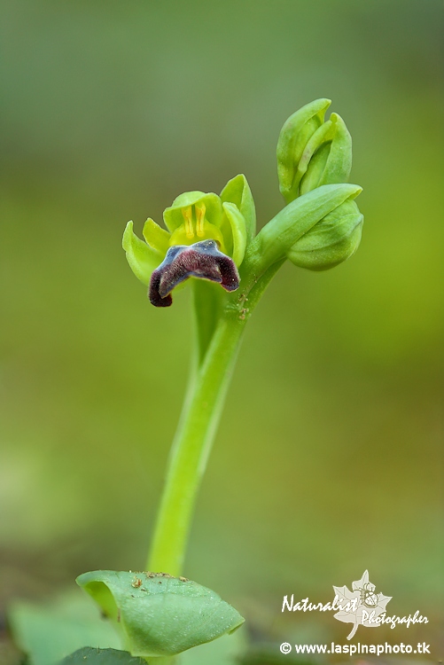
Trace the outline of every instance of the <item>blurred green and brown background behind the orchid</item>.
{"label": "blurred green and brown background behind the orchid", "polygon": [[279,130],[328,97],[354,137],[362,246],[325,273],[284,266],[254,313],[185,574],[271,638],[344,641],[330,614],[283,627],[282,597],[327,602],[368,568],[392,614],[429,616],[431,641],[441,3],[4,0],[2,14],[2,604],[144,565],[191,308],[186,289],[169,310],[149,305],[125,223],[140,232],[177,194],[220,192],[238,173],[266,223],[283,206]]}

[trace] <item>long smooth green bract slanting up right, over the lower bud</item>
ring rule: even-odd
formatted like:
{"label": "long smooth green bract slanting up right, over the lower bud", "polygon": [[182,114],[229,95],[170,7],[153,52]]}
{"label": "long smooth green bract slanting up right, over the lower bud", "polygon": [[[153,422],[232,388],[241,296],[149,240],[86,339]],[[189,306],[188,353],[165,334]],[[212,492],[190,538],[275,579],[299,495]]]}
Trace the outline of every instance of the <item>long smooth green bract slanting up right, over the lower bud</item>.
{"label": "long smooth green bract slanting up right, over the lower bud", "polygon": [[353,200],[362,192],[357,184],[324,184],[299,199],[293,200],[266,224],[251,246],[250,255],[258,262],[257,270],[287,256],[292,246],[325,215],[346,200]]}

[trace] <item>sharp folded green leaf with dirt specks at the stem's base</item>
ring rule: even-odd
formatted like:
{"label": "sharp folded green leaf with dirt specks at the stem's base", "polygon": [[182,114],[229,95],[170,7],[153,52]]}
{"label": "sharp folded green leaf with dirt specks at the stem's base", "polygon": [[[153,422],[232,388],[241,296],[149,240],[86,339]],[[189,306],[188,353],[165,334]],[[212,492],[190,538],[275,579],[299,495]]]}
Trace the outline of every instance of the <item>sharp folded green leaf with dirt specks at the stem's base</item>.
{"label": "sharp folded green leaf with dirt specks at the stem's base", "polygon": [[76,582],[121,626],[134,656],[172,656],[245,621],[217,593],[185,578],[97,570]]}

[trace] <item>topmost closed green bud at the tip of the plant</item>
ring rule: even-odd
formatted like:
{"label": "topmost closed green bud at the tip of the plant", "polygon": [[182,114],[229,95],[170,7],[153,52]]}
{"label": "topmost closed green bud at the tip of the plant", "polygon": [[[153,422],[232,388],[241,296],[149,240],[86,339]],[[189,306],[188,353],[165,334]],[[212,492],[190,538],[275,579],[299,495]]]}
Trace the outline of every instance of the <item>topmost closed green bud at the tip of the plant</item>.
{"label": "topmost closed green bud at the tip of the plant", "polygon": [[[321,101],[325,100],[318,100],[319,103]],[[304,106],[289,121],[312,105]],[[319,119],[319,115],[315,117]],[[293,123],[291,131],[287,128],[289,121],[285,122],[277,144],[280,190],[287,203],[323,184],[347,183],[352,168],[352,137],[342,118],[337,113],[331,113],[330,120],[320,124],[309,136],[307,122],[302,129],[300,121]],[[313,119],[310,121],[313,122]],[[292,133],[295,142],[307,137],[301,151],[294,151]]]}

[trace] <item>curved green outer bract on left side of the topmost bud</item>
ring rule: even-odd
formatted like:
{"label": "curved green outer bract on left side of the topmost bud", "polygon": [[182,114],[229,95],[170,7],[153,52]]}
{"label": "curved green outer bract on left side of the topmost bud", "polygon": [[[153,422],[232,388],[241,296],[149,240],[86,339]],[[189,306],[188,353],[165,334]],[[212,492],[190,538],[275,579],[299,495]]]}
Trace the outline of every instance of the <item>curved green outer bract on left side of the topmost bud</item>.
{"label": "curved green outer bract on left side of the topmost bud", "polygon": [[315,99],[293,113],[281,129],[277,141],[277,176],[279,190],[287,203],[299,196],[296,178],[300,158],[316,129],[323,124],[331,99]]}

